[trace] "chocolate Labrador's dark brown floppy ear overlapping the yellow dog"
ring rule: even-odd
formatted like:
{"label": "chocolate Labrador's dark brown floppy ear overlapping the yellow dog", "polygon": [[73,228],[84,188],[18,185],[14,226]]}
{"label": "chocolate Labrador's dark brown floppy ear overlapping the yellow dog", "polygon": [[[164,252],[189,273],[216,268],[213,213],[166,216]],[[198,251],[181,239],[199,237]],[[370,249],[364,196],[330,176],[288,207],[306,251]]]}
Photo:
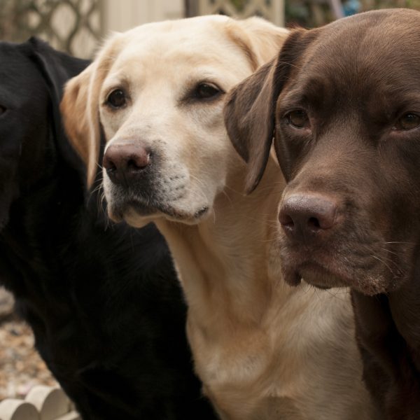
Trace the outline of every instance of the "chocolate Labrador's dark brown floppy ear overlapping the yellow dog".
{"label": "chocolate Labrador's dark brown floppy ear overlapping the yellow dog", "polygon": [[264,174],[272,146],[277,97],[288,80],[290,69],[300,56],[304,34],[292,31],[279,56],[239,83],[225,104],[225,125],[233,146],[248,163],[246,193],[251,193]]}

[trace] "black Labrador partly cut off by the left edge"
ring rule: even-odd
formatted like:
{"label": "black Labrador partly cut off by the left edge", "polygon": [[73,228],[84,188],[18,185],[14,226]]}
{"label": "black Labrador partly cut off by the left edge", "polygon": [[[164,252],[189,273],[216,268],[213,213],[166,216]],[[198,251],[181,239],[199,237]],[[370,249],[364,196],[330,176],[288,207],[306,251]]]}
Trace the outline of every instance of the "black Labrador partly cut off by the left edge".
{"label": "black Labrador partly cut off by the left edge", "polygon": [[214,419],[186,305],[154,225],[112,225],[64,136],[62,86],[87,62],[0,43],[0,279],[85,420]]}

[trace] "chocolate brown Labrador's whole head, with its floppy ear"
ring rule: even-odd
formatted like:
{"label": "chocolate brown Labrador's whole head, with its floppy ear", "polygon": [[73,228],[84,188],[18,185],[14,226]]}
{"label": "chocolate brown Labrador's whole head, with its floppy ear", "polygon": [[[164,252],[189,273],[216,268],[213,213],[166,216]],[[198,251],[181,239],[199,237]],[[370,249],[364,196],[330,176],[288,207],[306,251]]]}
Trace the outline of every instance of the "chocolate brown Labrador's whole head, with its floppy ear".
{"label": "chocolate brown Labrador's whole head, with its floppy ear", "polygon": [[248,190],[274,147],[288,186],[288,283],[373,295],[414,270],[420,242],[420,13],[380,10],[297,29],[225,109]]}

